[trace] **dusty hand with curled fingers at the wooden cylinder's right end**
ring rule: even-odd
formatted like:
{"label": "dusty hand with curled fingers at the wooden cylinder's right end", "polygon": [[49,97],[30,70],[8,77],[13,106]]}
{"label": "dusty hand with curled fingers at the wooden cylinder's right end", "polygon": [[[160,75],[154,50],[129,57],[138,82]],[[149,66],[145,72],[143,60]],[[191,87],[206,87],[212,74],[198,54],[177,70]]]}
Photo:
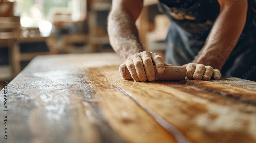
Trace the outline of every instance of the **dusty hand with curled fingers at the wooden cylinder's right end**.
{"label": "dusty hand with curled fingers at the wooden cylinder's right end", "polygon": [[221,78],[220,71],[213,69],[211,66],[204,66],[202,64],[189,63],[184,65],[187,67],[187,78],[194,80],[219,80]]}

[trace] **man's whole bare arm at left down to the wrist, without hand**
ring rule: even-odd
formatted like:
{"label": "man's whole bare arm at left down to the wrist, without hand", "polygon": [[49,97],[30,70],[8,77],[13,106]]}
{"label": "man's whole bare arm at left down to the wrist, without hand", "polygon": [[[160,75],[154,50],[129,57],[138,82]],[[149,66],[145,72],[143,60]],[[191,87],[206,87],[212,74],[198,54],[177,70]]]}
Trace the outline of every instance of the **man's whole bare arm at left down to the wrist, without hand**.
{"label": "man's whole bare arm at left down to the wrist, without hand", "polygon": [[144,51],[135,21],[141,13],[143,0],[113,0],[108,18],[110,44],[125,61]]}

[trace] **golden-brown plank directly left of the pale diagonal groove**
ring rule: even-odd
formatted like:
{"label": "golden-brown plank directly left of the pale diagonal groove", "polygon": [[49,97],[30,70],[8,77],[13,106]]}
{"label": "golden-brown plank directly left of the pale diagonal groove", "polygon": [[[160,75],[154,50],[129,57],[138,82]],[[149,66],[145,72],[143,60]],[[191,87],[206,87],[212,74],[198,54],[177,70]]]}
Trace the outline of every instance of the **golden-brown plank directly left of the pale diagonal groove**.
{"label": "golden-brown plank directly left of the pale diagonal groove", "polygon": [[98,68],[89,68],[86,71],[86,78],[100,99],[99,105],[108,121],[104,126],[101,125],[103,134],[111,126],[127,142],[176,142],[153,117],[113,87],[102,73],[98,73]]}

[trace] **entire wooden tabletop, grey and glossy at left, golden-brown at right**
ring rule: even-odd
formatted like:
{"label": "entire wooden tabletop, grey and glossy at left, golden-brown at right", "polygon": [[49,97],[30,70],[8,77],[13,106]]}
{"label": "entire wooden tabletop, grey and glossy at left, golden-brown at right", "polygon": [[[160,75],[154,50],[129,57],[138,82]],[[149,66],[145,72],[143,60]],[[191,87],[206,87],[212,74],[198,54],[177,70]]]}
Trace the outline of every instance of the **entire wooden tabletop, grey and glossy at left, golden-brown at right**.
{"label": "entire wooden tabletop, grey and glossy at left, golden-brown at right", "polygon": [[114,53],[37,56],[8,84],[7,108],[1,90],[0,142],[256,142],[256,82],[134,82],[121,63]]}

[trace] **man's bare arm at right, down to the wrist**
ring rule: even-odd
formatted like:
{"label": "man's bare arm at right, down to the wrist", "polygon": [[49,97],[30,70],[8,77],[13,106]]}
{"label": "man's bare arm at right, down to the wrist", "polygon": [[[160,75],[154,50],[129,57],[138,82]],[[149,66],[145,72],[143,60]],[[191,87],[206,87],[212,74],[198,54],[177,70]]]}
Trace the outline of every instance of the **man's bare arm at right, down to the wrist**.
{"label": "man's bare arm at right, down to the wrist", "polygon": [[[232,41],[238,40],[244,28],[248,6],[247,0],[238,0],[232,6],[227,7],[228,1],[218,0],[220,14],[212,27],[206,44],[192,63],[209,65],[220,70],[232,52],[235,46]],[[223,58],[220,58],[219,55],[222,52],[227,54],[223,54]]]}

